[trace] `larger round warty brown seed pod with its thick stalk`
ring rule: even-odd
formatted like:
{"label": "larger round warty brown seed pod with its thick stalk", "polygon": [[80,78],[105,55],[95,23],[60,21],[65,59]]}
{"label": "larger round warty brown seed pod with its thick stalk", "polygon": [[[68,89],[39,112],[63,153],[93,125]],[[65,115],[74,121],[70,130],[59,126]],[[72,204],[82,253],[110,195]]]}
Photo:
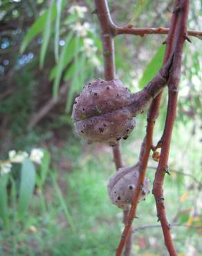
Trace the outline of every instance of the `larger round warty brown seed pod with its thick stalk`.
{"label": "larger round warty brown seed pod with its thick stalk", "polygon": [[88,143],[111,146],[127,139],[135,127],[134,117],[163,89],[165,81],[157,75],[142,91],[129,93],[120,80],[95,79],[75,98],[72,118],[77,134]]}

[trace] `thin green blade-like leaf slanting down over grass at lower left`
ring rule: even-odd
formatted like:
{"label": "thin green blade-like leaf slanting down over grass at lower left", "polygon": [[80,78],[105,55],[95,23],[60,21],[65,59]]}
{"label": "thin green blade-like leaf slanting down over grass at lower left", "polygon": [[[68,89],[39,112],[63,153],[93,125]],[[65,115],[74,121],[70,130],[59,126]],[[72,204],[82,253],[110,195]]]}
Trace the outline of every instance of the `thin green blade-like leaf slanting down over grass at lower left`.
{"label": "thin green blade-like leaf slanting down over grass at lower left", "polygon": [[64,201],[64,197],[62,195],[62,192],[59,188],[59,185],[57,184],[57,180],[55,178],[55,174],[51,174],[52,181],[53,181],[53,187],[55,188],[55,192],[57,195],[57,199],[59,203],[62,205],[62,209],[64,210],[64,214],[66,216],[66,220],[68,221],[69,225],[71,226],[71,229],[73,232],[75,232],[75,224],[73,222],[73,218],[71,217],[70,212],[68,211],[68,208],[66,207],[66,201]]}

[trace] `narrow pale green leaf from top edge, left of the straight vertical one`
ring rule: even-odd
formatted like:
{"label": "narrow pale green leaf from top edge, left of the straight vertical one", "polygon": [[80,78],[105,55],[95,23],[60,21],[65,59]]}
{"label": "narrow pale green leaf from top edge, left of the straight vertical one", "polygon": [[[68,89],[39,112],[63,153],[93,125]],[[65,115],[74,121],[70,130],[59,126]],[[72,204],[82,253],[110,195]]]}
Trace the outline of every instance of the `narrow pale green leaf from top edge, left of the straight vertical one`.
{"label": "narrow pale green leaf from top edge, left of the straight vertical one", "polygon": [[43,68],[43,66],[44,66],[44,59],[45,59],[45,55],[46,55],[46,51],[47,51],[47,47],[48,47],[48,42],[49,42],[49,39],[50,39],[53,2],[54,2],[54,0],[50,1],[50,7],[48,9],[48,15],[47,15],[46,24],[45,24],[45,28],[44,28],[44,33],[43,33],[43,37],[42,37],[43,42],[42,42],[40,57],[39,57],[39,66],[40,66],[40,68]]}

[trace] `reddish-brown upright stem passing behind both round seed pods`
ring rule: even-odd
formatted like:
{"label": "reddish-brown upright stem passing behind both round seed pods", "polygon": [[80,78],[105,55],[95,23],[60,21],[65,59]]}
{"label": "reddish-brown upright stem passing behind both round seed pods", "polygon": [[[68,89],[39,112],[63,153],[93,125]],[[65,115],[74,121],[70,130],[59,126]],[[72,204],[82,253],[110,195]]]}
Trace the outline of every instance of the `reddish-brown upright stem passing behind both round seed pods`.
{"label": "reddish-brown upright stem passing behind both round seed pods", "polygon": [[[111,15],[107,1],[95,0],[95,8],[100,21],[101,37],[102,37],[102,51],[104,57],[104,77],[106,80],[113,80],[115,78],[115,63],[114,63],[114,45],[113,36],[111,34]],[[116,170],[123,167],[122,154],[120,143],[113,147],[113,161],[116,165]],[[128,211],[123,212],[123,222],[126,223],[128,218]],[[125,256],[131,255],[131,232],[128,237]]]}

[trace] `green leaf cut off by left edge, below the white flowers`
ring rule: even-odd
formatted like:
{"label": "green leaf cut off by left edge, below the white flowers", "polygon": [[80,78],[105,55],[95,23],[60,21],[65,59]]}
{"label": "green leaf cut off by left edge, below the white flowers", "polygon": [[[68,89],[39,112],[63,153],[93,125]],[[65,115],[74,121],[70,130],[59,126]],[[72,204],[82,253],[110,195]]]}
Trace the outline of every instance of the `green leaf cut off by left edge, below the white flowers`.
{"label": "green leaf cut off by left edge, below the white flowers", "polygon": [[3,225],[8,229],[8,193],[7,193],[8,174],[0,177],[0,217]]}

